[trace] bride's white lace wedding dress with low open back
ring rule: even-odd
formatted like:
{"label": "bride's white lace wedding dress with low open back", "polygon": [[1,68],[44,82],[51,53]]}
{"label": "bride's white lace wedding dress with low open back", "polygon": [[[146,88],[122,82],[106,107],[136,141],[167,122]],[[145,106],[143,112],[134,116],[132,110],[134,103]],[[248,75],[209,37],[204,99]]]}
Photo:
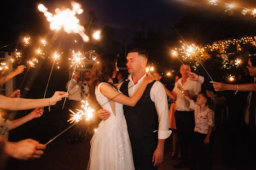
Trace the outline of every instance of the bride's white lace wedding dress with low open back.
{"label": "bride's white lace wedding dress with low open back", "polygon": [[101,107],[110,112],[110,117],[101,121],[91,139],[88,169],[135,169],[123,105],[102,95],[102,84],[95,89],[95,96]]}

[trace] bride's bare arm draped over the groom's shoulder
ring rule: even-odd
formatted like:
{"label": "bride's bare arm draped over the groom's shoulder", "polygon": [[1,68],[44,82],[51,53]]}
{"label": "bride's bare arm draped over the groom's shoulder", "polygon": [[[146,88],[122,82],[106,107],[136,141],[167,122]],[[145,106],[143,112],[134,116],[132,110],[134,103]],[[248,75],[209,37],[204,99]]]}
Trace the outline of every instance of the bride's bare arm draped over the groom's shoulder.
{"label": "bride's bare arm draped over the groom's shoulder", "polygon": [[138,90],[130,98],[124,94],[119,93],[113,87],[105,83],[101,85],[100,90],[101,93],[110,100],[127,106],[135,106],[139,99],[141,99],[141,96],[143,95],[148,83],[151,83],[152,81],[152,78],[145,77],[141,85],[139,86]]}

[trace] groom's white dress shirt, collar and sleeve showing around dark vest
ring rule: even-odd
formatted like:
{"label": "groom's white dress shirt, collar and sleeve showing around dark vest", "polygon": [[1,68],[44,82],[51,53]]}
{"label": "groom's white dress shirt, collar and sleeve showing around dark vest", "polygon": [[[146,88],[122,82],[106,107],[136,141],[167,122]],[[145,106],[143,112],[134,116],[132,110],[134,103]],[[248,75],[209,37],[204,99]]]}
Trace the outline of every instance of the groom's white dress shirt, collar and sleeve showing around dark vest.
{"label": "groom's white dress shirt, collar and sleeve showing around dark vest", "polygon": [[[128,93],[129,96],[132,96],[138,89],[138,87],[141,85],[143,79],[146,77],[146,74],[141,77],[138,80],[137,84],[134,84],[132,81],[132,75],[130,74],[128,76],[129,84],[128,84]],[[120,89],[121,84],[118,84],[118,89]],[[165,93],[164,86],[161,82],[156,81],[151,90],[150,90],[150,98],[155,103],[156,112],[158,113],[158,138],[159,139],[166,139],[168,138],[172,131],[168,130],[168,124],[169,124],[169,112],[168,112],[168,102],[167,102],[167,96]],[[154,132],[156,132],[155,130]]]}

